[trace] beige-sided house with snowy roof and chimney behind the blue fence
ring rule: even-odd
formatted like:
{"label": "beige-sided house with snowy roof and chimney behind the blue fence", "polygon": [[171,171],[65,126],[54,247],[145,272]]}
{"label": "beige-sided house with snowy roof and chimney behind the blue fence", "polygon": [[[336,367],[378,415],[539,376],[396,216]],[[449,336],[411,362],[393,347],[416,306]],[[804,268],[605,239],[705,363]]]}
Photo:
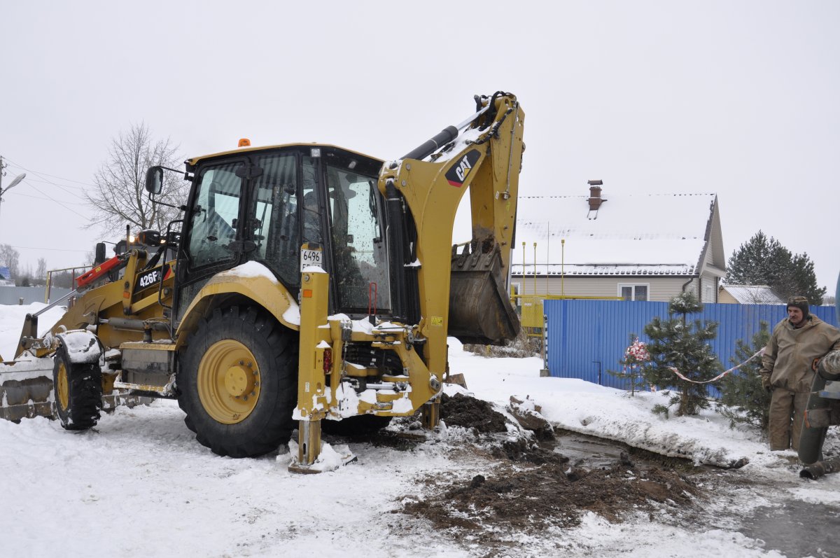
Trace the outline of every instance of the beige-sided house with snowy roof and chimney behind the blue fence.
{"label": "beige-sided house with snowy roof and chimney behind the blue fence", "polygon": [[520,197],[512,255],[519,294],[717,303],[726,276],[717,195]]}

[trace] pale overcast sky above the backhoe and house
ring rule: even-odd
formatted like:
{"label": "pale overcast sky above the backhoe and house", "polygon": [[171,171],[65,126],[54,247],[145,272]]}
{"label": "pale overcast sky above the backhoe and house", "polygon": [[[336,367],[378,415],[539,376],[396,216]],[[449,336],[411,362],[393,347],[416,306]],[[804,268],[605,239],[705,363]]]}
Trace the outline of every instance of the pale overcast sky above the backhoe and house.
{"label": "pale overcast sky above the backhoe and house", "polygon": [[0,243],[52,269],[116,240],[83,228],[81,194],[132,124],[185,157],[248,137],[391,159],[504,90],[527,115],[522,195],[714,192],[727,258],[761,229],[834,292],[840,3],[402,6],[3,2],[3,185],[27,177]]}

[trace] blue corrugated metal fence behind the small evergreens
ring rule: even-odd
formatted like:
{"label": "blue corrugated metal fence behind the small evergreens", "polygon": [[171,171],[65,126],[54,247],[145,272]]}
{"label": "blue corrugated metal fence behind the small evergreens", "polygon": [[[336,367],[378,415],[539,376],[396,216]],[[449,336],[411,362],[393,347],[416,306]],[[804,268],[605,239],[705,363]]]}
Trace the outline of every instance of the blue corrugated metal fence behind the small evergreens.
{"label": "blue corrugated metal fence behind the small evergreens", "polygon": [[[548,300],[544,310],[546,364],[551,376],[580,378],[619,389],[629,389],[627,380],[607,370],[622,369],[619,361],[627,349],[629,334],[648,342],[644,326],[654,316],[668,318],[668,303]],[[812,306],[811,313],[837,325],[833,307]],[[762,321],[772,331],[786,317],[785,306],[779,304],[704,304],[701,313],[690,314],[688,319],[717,322],[717,338],[710,345],[724,368],[729,368],[737,340],[749,343]],[[717,389],[711,387],[710,395],[717,396]]]}

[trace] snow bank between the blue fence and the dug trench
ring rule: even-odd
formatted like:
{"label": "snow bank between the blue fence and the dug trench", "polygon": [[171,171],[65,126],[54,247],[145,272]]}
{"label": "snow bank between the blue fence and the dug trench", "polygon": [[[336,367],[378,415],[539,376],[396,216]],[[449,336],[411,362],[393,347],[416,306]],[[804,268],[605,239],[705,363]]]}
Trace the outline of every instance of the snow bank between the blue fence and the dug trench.
{"label": "snow bank between the blue fence and the dug trench", "polygon": [[[696,464],[778,467],[795,458],[792,450],[770,452],[755,429],[730,429],[729,421],[711,409],[691,417],[664,419],[651,412],[667,404],[665,392],[629,393],[583,380],[540,377],[543,363],[528,359],[488,359],[461,350],[449,340],[449,367],[462,372],[475,397],[507,405],[512,395],[533,400],[555,427],[617,440],[643,450],[685,458]],[[743,463],[743,461],[742,461]],[[740,465],[740,464],[738,464]]]}

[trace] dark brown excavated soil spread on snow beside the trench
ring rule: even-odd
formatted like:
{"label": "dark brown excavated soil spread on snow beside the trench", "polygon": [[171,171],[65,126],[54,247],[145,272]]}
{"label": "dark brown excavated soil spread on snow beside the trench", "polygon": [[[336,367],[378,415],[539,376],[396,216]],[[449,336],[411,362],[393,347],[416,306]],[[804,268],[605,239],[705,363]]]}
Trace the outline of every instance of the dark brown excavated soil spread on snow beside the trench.
{"label": "dark brown excavated soil spread on snow beside the trench", "polygon": [[500,529],[531,533],[572,527],[587,511],[616,522],[627,511],[690,508],[702,497],[689,476],[633,463],[626,454],[614,465],[586,468],[570,466],[567,457],[534,440],[480,440],[480,434],[507,427],[504,415],[479,399],[444,397],[441,418],[448,426],[475,429],[480,451],[489,459],[480,475],[426,481],[424,492],[430,496],[396,510],[428,519],[436,529],[482,532],[493,539]]}

